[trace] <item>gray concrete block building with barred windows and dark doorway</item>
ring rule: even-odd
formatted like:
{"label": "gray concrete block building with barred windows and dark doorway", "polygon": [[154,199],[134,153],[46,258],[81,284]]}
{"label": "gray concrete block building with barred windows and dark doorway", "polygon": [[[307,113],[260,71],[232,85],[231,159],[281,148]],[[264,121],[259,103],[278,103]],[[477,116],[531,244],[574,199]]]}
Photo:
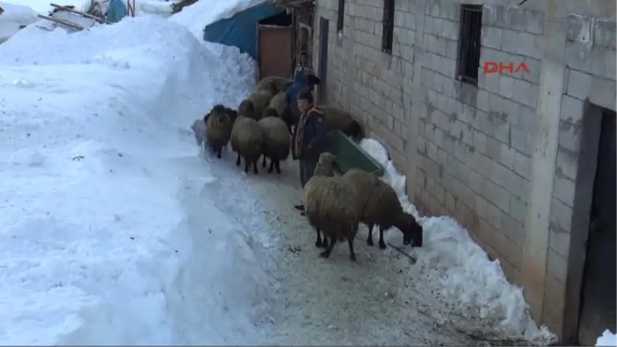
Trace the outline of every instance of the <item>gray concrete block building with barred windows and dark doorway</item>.
{"label": "gray concrete block building with barred windows and dark doorway", "polygon": [[617,1],[519,3],[316,0],[318,98],[500,259],[537,322],[593,344],[617,331]]}

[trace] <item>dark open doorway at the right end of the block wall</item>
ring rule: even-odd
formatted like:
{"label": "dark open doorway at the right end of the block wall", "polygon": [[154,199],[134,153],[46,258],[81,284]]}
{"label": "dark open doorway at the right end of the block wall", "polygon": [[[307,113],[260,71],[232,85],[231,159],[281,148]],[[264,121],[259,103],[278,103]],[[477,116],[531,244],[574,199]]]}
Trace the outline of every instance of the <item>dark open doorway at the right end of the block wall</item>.
{"label": "dark open doorway at the right end of the block wall", "polygon": [[589,238],[581,290],[578,342],[593,346],[617,332],[617,113],[602,109]]}

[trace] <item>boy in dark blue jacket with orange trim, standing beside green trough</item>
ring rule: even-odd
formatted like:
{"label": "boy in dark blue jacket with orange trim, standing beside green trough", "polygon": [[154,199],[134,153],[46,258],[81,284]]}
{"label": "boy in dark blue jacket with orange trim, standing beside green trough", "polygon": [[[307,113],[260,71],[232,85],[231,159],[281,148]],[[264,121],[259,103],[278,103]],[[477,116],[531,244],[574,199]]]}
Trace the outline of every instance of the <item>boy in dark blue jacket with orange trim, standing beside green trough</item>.
{"label": "boy in dark blue jacket with orange trim, standing beside green trough", "polygon": [[[313,93],[304,90],[298,95],[297,106],[300,115],[292,136],[292,156],[300,161],[300,183],[302,188],[313,177],[320,154],[325,150],[325,138],[328,127],[324,112],[313,105]],[[295,205],[303,211],[304,205]]]}

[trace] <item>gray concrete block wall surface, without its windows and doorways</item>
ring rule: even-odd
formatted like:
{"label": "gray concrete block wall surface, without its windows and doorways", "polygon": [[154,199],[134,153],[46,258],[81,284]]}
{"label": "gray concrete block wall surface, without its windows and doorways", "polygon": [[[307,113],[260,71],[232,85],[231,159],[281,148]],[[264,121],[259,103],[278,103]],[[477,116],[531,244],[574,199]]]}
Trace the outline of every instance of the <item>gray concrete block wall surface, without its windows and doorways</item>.
{"label": "gray concrete block wall surface, without its windows and doorways", "polygon": [[381,52],[383,1],[346,0],[337,35],[337,0],[317,0],[313,61],[325,17],[328,103],[362,119],[420,211],[457,217],[563,335],[566,291],[580,288],[566,275],[582,276],[568,260],[584,262],[587,237],[570,244],[584,100],[617,108],[617,23],[570,13],[617,14],[617,1],[506,2],[484,2],[481,65],[522,61],[529,75],[456,79],[458,0],[397,0],[392,54]]}

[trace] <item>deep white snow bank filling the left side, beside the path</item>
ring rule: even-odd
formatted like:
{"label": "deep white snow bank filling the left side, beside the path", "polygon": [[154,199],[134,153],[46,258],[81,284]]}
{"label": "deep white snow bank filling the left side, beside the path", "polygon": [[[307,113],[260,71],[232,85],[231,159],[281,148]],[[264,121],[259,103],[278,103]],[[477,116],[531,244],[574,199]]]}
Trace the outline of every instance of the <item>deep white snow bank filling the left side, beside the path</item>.
{"label": "deep white snow bank filling the left side, beside the path", "polygon": [[0,45],[2,345],[251,343],[265,275],[181,130],[247,93],[230,52],[148,17]]}

